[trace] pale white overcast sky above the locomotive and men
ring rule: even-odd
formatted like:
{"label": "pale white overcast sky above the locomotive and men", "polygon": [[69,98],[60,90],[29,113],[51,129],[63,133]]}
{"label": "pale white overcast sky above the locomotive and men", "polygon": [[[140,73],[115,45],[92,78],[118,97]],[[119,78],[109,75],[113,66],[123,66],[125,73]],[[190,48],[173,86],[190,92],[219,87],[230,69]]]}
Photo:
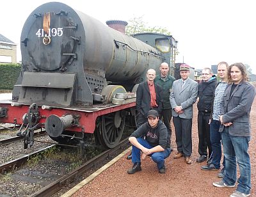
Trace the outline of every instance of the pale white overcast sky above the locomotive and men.
{"label": "pale white overcast sky above the locomotive and men", "polygon": [[[29,14],[44,0],[8,0],[1,3],[0,33],[20,48],[20,33]],[[143,16],[147,26],[168,29],[178,40],[176,62],[204,68],[220,61],[242,62],[256,74],[256,12],[253,0],[85,1],[63,0],[105,24],[106,20],[129,20]],[[159,3],[159,4],[157,4]],[[20,49],[17,60],[21,60]]]}

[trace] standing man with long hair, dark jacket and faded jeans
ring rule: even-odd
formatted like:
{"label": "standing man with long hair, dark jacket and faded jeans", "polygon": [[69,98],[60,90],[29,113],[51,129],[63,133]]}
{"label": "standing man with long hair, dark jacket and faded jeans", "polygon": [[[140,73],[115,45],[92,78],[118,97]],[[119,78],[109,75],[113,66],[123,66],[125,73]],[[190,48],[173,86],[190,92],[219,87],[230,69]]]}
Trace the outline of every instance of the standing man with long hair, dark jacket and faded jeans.
{"label": "standing man with long hair, dark jacket and faded jeans", "polygon": [[240,177],[237,189],[231,197],[250,196],[251,164],[248,154],[251,136],[250,111],[255,97],[255,87],[247,82],[246,67],[234,63],[228,67],[228,84],[221,102],[220,130],[226,159],[225,175],[216,187],[235,187],[236,162]]}

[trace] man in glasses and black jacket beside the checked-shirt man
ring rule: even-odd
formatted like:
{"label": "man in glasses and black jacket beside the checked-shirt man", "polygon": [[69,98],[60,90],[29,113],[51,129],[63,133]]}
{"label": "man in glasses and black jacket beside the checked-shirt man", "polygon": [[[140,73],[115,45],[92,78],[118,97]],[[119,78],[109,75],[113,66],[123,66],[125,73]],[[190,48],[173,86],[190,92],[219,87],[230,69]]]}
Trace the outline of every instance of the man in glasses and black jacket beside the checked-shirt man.
{"label": "man in glasses and black jacket beside the checked-shirt man", "polygon": [[[211,68],[204,68],[202,70],[202,82],[198,85],[198,97],[197,103],[198,109],[198,153],[200,157],[196,159],[196,162],[203,162],[207,160],[212,153],[211,141],[210,141],[210,115],[212,110],[212,101],[214,99],[214,90],[217,84],[215,75],[212,75]],[[208,148],[208,154],[207,154]]]}

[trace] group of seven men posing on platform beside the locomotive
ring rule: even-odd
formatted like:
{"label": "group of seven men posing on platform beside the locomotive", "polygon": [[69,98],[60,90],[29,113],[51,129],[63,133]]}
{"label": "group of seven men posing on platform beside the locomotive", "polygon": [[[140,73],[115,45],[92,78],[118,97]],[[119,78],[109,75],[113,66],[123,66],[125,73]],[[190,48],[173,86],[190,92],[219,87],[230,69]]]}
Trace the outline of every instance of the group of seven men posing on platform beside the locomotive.
{"label": "group of seven men posing on platform beside the locomotive", "polygon": [[[235,187],[236,162],[240,177],[236,191],[230,196],[249,196],[251,189],[251,166],[248,146],[250,141],[250,110],[255,97],[255,87],[248,83],[243,63],[230,66],[221,61],[218,77],[211,68],[202,70],[199,84],[189,78],[189,66],[180,65],[181,79],[169,74],[167,63],[161,63],[160,74],[147,71],[147,81],[140,83],[136,91],[138,128],[131,134],[132,168],[127,173],[141,171],[141,159],[148,155],[157,164],[159,173],[165,173],[164,159],[171,151],[173,116],[177,154],[191,164],[193,104],[198,99],[198,154],[196,162],[207,161],[203,170],[220,169],[221,143],[223,145],[223,168],[214,182],[216,187]],[[162,121],[163,120],[163,121]],[[208,152],[207,152],[208,150]]]}

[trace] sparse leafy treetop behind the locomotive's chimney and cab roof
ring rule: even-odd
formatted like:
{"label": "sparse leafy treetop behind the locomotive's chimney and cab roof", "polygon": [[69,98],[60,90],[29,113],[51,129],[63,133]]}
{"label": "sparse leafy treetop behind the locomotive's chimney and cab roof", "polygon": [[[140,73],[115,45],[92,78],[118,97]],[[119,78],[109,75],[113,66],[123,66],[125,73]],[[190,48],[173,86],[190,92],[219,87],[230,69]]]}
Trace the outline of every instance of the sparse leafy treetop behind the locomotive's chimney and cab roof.
{"label": "sparse leafy treetop behind the locomotive's chimney and cab roof", "polygon": [[148,27],[147,23],[143,21],[143,16],[134,17],[128,21],[126,26],[125,33],[127,35],[134,35],[136,33],[163,33],[164,35],[171,35],[170,31],[166,28],[161,28],[159,26]]}

